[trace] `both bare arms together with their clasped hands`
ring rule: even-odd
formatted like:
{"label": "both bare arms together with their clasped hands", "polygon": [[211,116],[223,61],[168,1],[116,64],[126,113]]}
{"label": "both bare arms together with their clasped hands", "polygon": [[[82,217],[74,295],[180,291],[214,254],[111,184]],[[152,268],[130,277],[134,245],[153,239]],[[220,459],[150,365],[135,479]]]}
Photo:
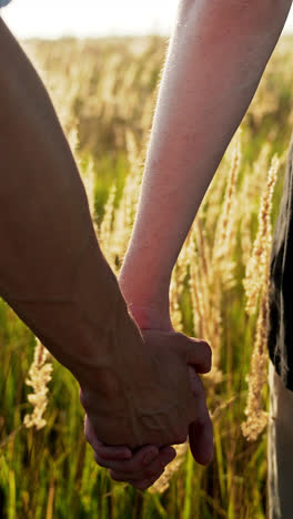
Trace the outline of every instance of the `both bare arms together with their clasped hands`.
{"label": "both bare arms together with their clasped hands", "polygon": [[[6,49],[0,53],[0,154],[4,175],[0,193],[0,293],[77,377],[88,415],[85,435],[89,420],[95,438],[107,445],[109,437],[112,442],[112,447],[94,444],[97,456],[104,459],[113,478],[129,480],[137,488],[145,487],[162,471],[155,465],[158,459],[152,468],[148,466],[142,471],[139,447],[151,450],[153,445],[145,445],[155,440],[158,457],[166,462],[163,449],[168,449],[166,441],[171,442],[166,409],[172,404],[170,395],[174,388],[170,381],[168,386],[170,373],[164,369],[165,364],[179,377],[181,401],[185,406],[185,419],[181,416],[180,430],[175,430],[178,415],[173,404],[172,440],[182,441],[189,432],[195,459],[203,464],[211,459],[211,435],[206,440],[206,434],[202,434],[202,428],[211,427],[205,400],[203,393],[192,389],[196,380],[194,368],[183,360],[191,339],[182,334],[172,335],[169,328],[170,277],[209,183],[256,90],[290,7],[289,0],[180,2],[139,211],[119,279],[123,297],[93,235],[85,192],[50,100],[0,20],[0,48]],[[211,140],[214,134],[218,139]],[[93,316],[94,305],[99,312]],[[125,327],[124,335],[121,332],[113,339],[111,330],[115,329],[117,316]],[[166,333],[173,344],[170,349],[164,348]],[[200,343],[198,350],[204,357],[203,342]],[[130,350],[125,348],[129,344]],[[110,352],[118,345],[120,348],[111,357]],[[129,397],[124,373],[132,373],[138,352],[145,378],[137,380],[138,387],[131,388]],[[121,353],[125,365],[119,363]],[[145,394],[144,384],[150,384],[154,365],[160,398],[152,401],[159,404],[150,413],[150,391]],[[199,370],[198,362],[190,365]],[[108,421],[115,424],[118,417],[105,414],[105,401],[117,395],[115,387],[121,380],[125,390],[121,391],[117,409],[121,413],[123,404],[128,405],[128,420],[132,419],[133,427],[125,420],[121,435],[120,428],[115,428],[119,434],[114,435]],[[150,420],[141,428],[143,411]],[[152,414],[161,417],[160,439]],[[119,451],[113,441],[122,445]],[[123,444],[128,450],[123,450]],[[99,454],[102,447],[108,450]],[[131,455],[135,462],[131,458],[121,461],[124,465],[119,467],[111,466],[118,460],[108,462],[110,452],[112,458],[121,452]]]}

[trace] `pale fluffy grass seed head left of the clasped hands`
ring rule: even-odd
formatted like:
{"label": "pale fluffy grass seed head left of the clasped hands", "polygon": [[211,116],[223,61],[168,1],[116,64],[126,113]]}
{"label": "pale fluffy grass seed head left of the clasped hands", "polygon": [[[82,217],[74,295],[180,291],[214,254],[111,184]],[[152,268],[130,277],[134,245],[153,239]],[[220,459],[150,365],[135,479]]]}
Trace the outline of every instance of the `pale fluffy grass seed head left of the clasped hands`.
{"label": "pale fluffy grass seed head left of the clasped hands", "polygon": [[31,386],[34,391],[28,396],[28,400],[33,405],[33,413],[26,415],[23,419],[26,427],[36,426],[37,430],[47,424],[42,418],[48,404],[47,393],[49,389],[46,386],[51,380],[53,370],[52,364],[46,364],[48,355],[50,355],[48,349],[37,339],[33,363],[29,370],[30,378],[26,379],[26,384]]}

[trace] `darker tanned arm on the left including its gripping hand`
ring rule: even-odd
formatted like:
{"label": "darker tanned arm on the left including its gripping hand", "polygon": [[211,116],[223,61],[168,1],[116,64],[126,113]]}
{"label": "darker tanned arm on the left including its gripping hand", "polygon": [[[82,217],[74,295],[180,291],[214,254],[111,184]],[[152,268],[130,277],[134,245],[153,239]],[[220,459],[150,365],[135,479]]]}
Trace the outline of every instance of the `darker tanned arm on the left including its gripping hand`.
{"label": "darker tanned arm on the left including its gripping hand", "polygon": [[[1,19],[0,49],[1,296],[74,375],[105,445],[163,448],[199,420],[211,428],[193,387],[194,369],[211,367],[210,346],[140,329],[101,253],[51,100]],[[192,434],[191,448],[196,441]]]}

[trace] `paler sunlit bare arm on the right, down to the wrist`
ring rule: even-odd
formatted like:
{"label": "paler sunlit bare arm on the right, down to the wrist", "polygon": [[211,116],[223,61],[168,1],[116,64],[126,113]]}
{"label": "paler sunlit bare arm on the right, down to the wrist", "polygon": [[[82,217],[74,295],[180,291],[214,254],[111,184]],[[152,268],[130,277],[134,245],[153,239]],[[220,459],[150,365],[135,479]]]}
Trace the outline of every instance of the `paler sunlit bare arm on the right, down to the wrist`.
{"label": "paler sunlit bare arm on the right, down to the wrist", "polygon": [[255,93],[291,1],[180,2],[119,278],[141,326],[151,325],[152,312],[155,325],[168,326],[176,257]]}

